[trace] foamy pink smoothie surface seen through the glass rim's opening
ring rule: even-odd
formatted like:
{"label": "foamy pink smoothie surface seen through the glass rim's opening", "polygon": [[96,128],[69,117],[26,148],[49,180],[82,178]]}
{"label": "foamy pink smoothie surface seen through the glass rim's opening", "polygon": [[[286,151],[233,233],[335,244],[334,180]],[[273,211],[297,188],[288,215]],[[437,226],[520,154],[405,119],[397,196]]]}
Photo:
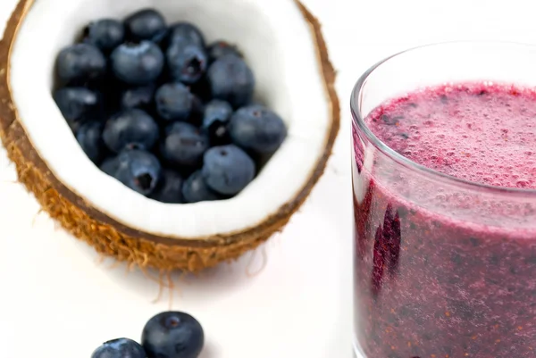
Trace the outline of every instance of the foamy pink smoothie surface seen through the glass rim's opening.
{"label": "foamy pink smoothie surface seen through the glass rim's opening", "polygon": [[536,188],[536,91],[463,84],[410,94],[365,120],[385,144],[456,178]]}

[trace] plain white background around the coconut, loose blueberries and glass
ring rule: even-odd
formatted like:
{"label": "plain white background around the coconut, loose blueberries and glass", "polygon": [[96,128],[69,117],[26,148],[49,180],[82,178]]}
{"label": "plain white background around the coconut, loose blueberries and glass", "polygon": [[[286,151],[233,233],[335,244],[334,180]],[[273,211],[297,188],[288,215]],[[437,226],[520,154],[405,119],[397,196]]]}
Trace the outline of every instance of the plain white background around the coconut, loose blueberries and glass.
{"label": "plain white background around the coconut, loose blueberries and glass", "polygon": [[[0,31],[15,2],[0,0]],[[13,183],[13,165],[2,150],[0,356],[89,357],[107,339],[138,339],[145,321],[170,305],[204,325],[201,358],[351,356],[353,84],[374,62],[411,46],[456,39],[536,43],[536,12],[529,0],[304,2],[324,25],[343,116],[328,170],[303,210],[256,253],[199,278],[175,277],[172,299],[164,290],[153,303],[155,281],[98,263],[92,249],[38,212],[35,200]]]}

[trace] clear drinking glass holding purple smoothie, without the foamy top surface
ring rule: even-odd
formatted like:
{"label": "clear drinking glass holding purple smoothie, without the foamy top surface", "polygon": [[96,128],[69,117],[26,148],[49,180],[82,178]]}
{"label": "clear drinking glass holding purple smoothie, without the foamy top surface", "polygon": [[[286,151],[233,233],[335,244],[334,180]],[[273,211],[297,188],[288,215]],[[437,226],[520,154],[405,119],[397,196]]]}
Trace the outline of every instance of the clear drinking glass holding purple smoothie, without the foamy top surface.
{"label": "clear drinking glass holding purple smoothie, without the foamy top surface", "polygon": [[536,87],[536,47],[422,46],[377,63],[357,81],[351,97],[357,357],[536,356],[536,190],[490,187],[425,168],[382,143],[364,121],[388,99],[468,81]]}

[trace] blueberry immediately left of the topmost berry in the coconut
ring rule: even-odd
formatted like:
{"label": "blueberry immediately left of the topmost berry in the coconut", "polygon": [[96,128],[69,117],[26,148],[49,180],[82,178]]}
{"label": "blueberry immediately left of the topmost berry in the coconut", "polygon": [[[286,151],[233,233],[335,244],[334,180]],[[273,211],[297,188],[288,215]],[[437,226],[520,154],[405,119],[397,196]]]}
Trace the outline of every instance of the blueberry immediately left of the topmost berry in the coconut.
{"label": "blueberry immediately left of the topmost berry in the coconut", "polygon": [[125,38],[125,29],[120,21],[103,19],[91,22],[86,29],[87,41],[109,53],[120,46]]}

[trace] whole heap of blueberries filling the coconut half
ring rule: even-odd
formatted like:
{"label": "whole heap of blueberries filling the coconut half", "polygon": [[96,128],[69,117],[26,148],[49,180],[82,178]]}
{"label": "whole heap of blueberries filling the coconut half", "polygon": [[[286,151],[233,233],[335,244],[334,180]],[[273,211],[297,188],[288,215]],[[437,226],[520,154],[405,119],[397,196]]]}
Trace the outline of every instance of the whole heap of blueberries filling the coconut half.
{"label": "whole heap of blueberries filling the coconut half", "polygon": [[236,196],[287,136],[235,46],[145,9],[58,54],[54,101],[105,173],[163,203]]}

